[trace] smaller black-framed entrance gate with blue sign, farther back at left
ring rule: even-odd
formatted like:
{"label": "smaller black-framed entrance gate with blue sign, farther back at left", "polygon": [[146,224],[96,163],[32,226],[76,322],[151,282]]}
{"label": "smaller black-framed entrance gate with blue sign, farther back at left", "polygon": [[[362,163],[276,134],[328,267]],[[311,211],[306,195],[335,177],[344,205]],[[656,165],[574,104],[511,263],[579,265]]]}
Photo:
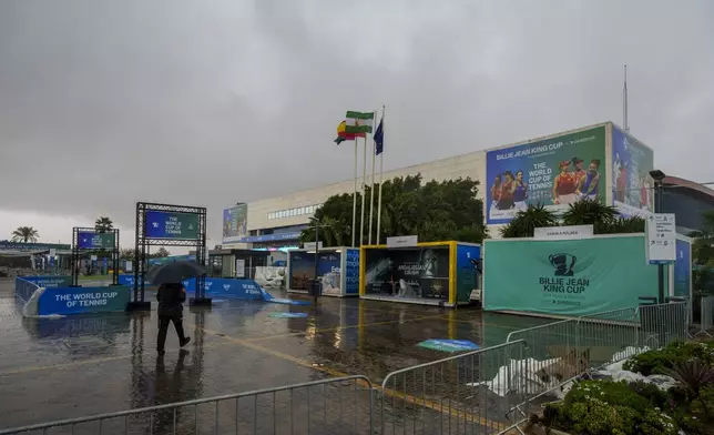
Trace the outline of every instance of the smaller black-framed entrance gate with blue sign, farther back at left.
{"label": "smaller black-framed entrance gate with blue sign, farther back at left", "polygon": [[[119,284],[119,230],[72,229],[72,286],[80,285],[83,254],[111,254],[112,285]],[[109,262],[108,262],[109,265]]]}

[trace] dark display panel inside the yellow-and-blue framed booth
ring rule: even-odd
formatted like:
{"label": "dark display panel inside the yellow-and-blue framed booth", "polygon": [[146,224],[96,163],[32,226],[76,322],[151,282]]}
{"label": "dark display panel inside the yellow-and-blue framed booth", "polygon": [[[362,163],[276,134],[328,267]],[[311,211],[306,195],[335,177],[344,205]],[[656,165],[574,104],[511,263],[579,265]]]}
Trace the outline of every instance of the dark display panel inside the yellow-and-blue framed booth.
{"label": "dark display panel inside the yellow-and-blue framed booth", "polygon": [[368,294],[401,297],[449,297],[449,247],[366,251]]}

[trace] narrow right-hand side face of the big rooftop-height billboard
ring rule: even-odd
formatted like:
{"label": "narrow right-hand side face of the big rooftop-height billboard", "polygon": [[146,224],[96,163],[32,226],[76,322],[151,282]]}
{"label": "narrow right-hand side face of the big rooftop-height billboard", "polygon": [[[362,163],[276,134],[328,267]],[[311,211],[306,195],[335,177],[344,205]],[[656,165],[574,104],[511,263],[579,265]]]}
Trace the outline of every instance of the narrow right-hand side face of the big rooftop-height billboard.
{"label": "narrow right-hand side face of the big rooftop-height billboard", "polygon": [[612,198],[623,216],[654,212],[654,154],[630,134],[612,127]]}

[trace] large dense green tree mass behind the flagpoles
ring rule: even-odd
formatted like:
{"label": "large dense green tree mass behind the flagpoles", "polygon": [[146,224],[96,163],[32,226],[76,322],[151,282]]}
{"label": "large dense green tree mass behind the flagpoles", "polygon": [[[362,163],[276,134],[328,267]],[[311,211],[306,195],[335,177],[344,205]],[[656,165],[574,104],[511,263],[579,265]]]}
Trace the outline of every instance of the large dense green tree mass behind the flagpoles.
{"label": "large dense green tree mass behind the flagpoles", "polygon": [[[414,235],[420,242],[458,240],[480,243],[487,232],[483,225],[483,203],[477,199],[479,182],[471,179],[430,181],[421,183],[421,174],[385,181],[381,186],[381,221],[378,240],[385,243],[388,236]],[[379,189],[378,185],[374,186]],[[370,198],[367,186],[365,198]],[[377,229],[377,198],[373,231]],[[361,194],[357,194],[356,237],[359,237],[361,222]],[[315,241],[315,225],[319,227],[319,240],[325,246],[351,245],[353,220],[351,193],[334,195],[317,209],[310,225],[300,234],[300,242]],[[368,242],[369,204],[365,204],[365,237]],[[374,234],[374,233],[373,233]],[[359,241],[357,240],[359,245]]]}

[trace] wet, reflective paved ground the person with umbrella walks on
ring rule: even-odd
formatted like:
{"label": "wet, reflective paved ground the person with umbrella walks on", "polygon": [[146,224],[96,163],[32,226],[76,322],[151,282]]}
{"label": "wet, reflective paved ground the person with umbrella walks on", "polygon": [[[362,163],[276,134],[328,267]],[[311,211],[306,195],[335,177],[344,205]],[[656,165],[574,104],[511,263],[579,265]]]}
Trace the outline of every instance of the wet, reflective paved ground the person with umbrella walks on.
{"label": "wet, reflective paved ground the person with umbrella walks on", "polygon": [[[151,299],[153,294],[147,292],[146,296]],[[280,312],[307,313],[307,317],[271,316]],[[157,358],[155,311],[59,320],[22,318],[13,297],[13,281],[0,279],[0,429],[348,375],[365,375],[381,384],[389,372],[450,355],[417,346],[427,338],[468,340],[484,347],[503,343],[511,331],[541,323],[545,321],[488,314],[471,307],[447,310],[355,299],[323,297],[318,306],[220,302],[212,308],[186,308],[184,327],[192,337],[187,352],[180,352],[176,335],[170,328],[166,355]],[[414,380],[404,381],[414,383],[411,387],[401,384],[398,387],[412,391],[415,385],[432,386],[434,382],[426,383],[422,377],[445,376],[445,373],[424,372],[418,374],[419,380],[415,373]],[[457,368],[457,378],[468,380],[469,375],[475,378],[473,373],[463,370],[459,373]],[[356,426],[364,425],[369,413],[367,405],[358,406],[357,401],[369,403],[359,396],[368,393],[361,381],[337,386],[335,390],[332,385],[318,385],[309,391],[267,394],[259,399],[244,397],[237,404],[233,401],[230,411],[223,409],[225,403],[217,409],[214,404],[202,405],[203,408],[184,409],[180,415],[146,417],[152,422],[144,423],[154,433],[163,433],[159,426],[166,421],[178,422],[178,426],[184,422],[185,426],[186,421],[202,421],[206,415],[223,421],[230,412],[236,427],[239,423],[241,427],[251,426],[249,433],[262,433],[266,426],[261,426],[258,419],[284,419],[280,428],[298,423],[317,426],[310,422],[312,417],[294,415],[310,407],[310,414],[323,412],[326,421],[328,416],[335,419],[340,433],[353,433],[345,431],[345,422],[355,418],[360,421],[354,423]],[[299,401],[294,396],[285,401],[299,402],[302,407],[283,407],[280,394],[298,393]],[[424,396],[428,395],[425,391]],[[421,405],[421,413],[434,413],[419,419],[421,425],[425,421],[442,425],[445,414],[455,415],[453,411],[443,411],[443,403]],[[328,412],[330,406],[335,408]],[[258,417],[254,417],[255,409],[262,409]],[[447,406],[447,409],[450,408]],[[236,411],[241,418],[236,418]],[[263,415],[266,412],[273,415]],[[458,424],[461,418],[458,412],[456,418]],[[278,423],[269,425],[277,427]],[[409,426],[408,422],[401,422],[399,427],[405,425]],[[256,429],[258,426],[261,431]],[[325,433],[336,433],[335,427]],[[163,431],[171,433],[165,427]],[[290,427],[285,432],[315,431]],[[424,428],[416,432],[429,433]]]}

